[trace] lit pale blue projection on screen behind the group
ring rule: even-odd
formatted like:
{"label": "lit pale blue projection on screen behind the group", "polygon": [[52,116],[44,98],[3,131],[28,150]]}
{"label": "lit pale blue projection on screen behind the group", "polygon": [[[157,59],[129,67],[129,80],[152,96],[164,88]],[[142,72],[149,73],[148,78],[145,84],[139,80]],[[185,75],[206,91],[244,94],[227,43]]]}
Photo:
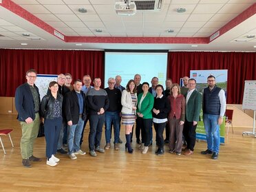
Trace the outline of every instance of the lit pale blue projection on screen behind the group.
{"label": "lit pale blue projection on screen behind the group", "polygon": [[141,81],[148,82],[158,77],[164,85],[167,78],[167,52],[105,52],[105,87],[109,77],[122,76],[121,85],[125,87],[135,74],[140,74]]}

